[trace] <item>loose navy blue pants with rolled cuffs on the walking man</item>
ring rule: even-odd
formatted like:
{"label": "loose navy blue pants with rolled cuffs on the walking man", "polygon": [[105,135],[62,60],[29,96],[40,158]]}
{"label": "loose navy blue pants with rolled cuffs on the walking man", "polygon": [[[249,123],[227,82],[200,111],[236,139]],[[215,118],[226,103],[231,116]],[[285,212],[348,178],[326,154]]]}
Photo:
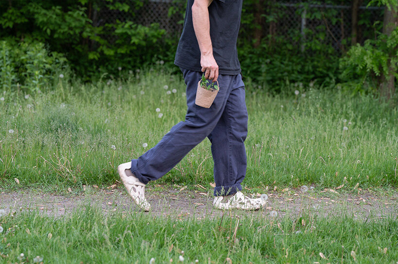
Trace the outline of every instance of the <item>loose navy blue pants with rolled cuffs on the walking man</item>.
{"label": "loose navy blue pants with rolled cuffs on the walking man", "polygon": [[162,140],[141,157],[131,161],[131,172],[143,183],[155,181],[177,165],[206,137],[211,142],[214,161],[215,196],[242,190],[246,175],[247,109],[245,85],[240,74],[219,75],[220,89],[210,108],[195,104],[202,73],[181,68],[188,110]]}

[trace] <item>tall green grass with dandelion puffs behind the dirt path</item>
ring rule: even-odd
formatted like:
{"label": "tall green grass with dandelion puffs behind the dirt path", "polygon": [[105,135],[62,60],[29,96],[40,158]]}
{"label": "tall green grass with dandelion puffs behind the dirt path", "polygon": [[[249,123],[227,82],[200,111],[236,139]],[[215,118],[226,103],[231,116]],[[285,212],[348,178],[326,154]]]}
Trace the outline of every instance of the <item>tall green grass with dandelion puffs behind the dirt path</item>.
{"label": "tall green grass with dandelion puffs behind the dirt path", "polygon": [[[118,164],[143,154],[184,119],[180,75],[157,69],[124,81],[107,76],[90,84],[65,79],[41,94],[2,95],[3,189],[111,184],[118,179]],[[347,96],[338,86],[299,88],[299,95],[294,85],[285,95],[269,95],[253,86],[246,82],[246,186],[398,186],[397,106],[371,96]],[[166,93],[173,89],[176,93]],[[209,182],[213,161],[210,143],[204,140],[156,184]]]}

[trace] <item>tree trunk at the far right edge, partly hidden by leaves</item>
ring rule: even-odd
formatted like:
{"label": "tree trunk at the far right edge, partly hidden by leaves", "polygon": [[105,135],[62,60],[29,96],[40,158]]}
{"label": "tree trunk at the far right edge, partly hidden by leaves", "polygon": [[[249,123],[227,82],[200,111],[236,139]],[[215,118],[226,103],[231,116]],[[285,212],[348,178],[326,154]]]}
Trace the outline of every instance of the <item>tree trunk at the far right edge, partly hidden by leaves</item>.
{"label": "tree trunk at the far right edge, partly hidden by leaves", "polygon": [[[390,35],[395,28],[398,27],[398,16],[396,10],[388,10],[387,7],[384,9],[384,19],[383,19],[383,33]],[[395,52],[396,53],[396,52]],[[394,56],[394,55],[392,55]],[[390,60],[388,65],[391,65]],[[380,83],[380,94],[386,99],[390,99],[395,94],[395,76],[393,67],[389,67],[389,72],[387,76],[382,76]]]}

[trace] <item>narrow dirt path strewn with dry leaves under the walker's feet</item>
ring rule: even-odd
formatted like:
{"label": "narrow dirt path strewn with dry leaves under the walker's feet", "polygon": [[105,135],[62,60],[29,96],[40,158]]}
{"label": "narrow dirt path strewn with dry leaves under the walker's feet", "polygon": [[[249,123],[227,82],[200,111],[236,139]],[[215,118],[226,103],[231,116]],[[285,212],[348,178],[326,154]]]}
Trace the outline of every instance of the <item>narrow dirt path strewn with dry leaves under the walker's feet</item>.
{"label": "narrow dirt path strewn with dry leaves under the walker's feet", "polygon": [[[213,196],[210,191],[166,190],[163,187],[147,188],[146,197],[152,205],[152,214],[157,216],[173,216],[183,219],[194,216],[198,219],[221,215],[221,211],[212,209]],[[127,214],[139,212],[125,189],[95,189],[79,195],[54,195],[37,191],[32,193],[1,192],[0,209],[7,213],[26,210],[40,210],[46,214],[62,216],[71,213],[78,207],[91,204],[101,206],[104,213],[121,211]],[[254,196],[258,196],[254,195]],[[385,216],[398,217],[398,191],[393,190],[387,195],[374,195],[369,191],[358,194],[338,194],[335,192],[307,192],[290,194],[286,192],[268,193],[268,204],[265,210],[252,213],[235,211],[234,214],[254,214],[268,216],[276,211],[278,217],[285,214],[315,213],[320,216],[348,214],[359,219],[376,219]]]}

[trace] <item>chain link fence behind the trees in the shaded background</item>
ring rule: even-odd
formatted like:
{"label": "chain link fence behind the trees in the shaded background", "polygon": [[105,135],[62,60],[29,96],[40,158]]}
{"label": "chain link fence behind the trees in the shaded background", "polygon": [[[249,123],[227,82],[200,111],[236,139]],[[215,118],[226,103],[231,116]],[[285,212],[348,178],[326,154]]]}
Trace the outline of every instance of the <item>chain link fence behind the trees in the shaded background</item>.
{"label": "chain link fence behind the trees in the shaded background", "polygon": [[[146,0],[138,7],[135,1],[119,2],[129,5],[128,12],[109,10],[106,0],[96,1],[98,11],[93,16],[94,26],[112,24],[117,20],[133,21],[144,26],[157,23],[169,37],[178,38],[181,34],[186,1]],[[261,14],[266,19],[262,19],[260,23],[263,37],[272,35],[283,38],[300,46],[302,50],[311,49],[307,47],[307,43],[314,40],[314,37],[316,41],[331,45],[337,51],[344,51],[344,47],[350,45],[352,9],[349,5],[308,4],[303,0],[268,0],[263,3],[266,7]],[[270,3],[272,8],[269,8]],[[248,6],[245,2],[243,4],[246,10],[255,12],[255,6]],[[365,39],[374,36],[372,25],[376,21],[382,21],[383,8],[361,6],[359,17],[362,20],[360,19],[358,26],[358,42],[363,43]],[[253,25],[242,23],[241,37],[252,38],[252,30]],[[111,43],[112,39],[108,41]]]}

